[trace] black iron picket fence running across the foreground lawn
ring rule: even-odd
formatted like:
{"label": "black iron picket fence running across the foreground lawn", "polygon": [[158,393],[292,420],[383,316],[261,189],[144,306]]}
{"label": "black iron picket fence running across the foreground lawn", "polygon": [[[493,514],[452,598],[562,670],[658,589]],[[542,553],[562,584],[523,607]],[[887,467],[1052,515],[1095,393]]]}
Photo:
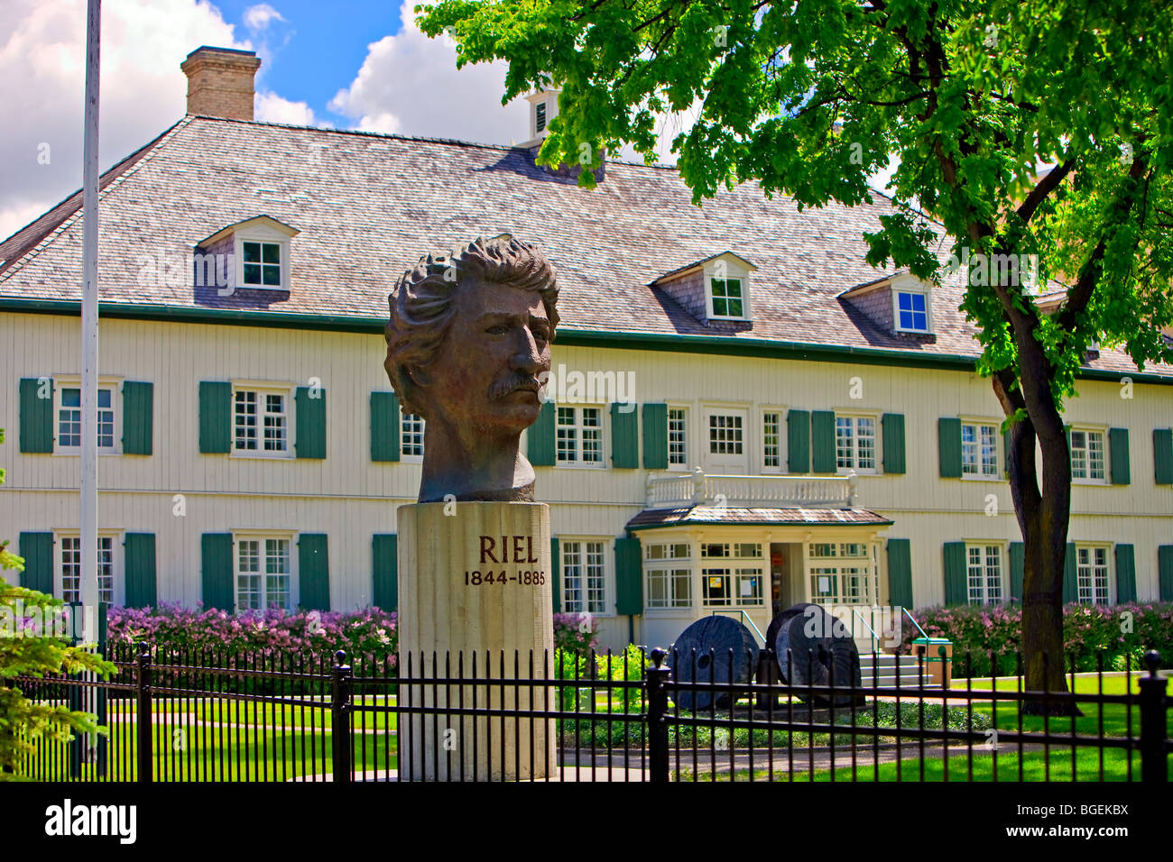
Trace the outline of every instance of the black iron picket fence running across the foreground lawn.
{"label": "black iron picket fence running across the foreground lawn", "polygon": [[[393,657],[109,650],[110,679],[16,678],[99,714],[39,738],[45,781],[1167,781],[1168,680],[1147,670],[925,687],[739,678],[732,653]],[[809,665],[812,656],[804,657]],[[766,653],[762,667],[775,667]],[[747,663],[746,663],[747,664]],[[958,671],[964,672],[965,659]],[[877,678],[873,668],[873,679]],[[744,674],[743,674],[744,676]],[[789,679],[792,683],[780,681]],[[805,684],[794,680],[802,678]]]}

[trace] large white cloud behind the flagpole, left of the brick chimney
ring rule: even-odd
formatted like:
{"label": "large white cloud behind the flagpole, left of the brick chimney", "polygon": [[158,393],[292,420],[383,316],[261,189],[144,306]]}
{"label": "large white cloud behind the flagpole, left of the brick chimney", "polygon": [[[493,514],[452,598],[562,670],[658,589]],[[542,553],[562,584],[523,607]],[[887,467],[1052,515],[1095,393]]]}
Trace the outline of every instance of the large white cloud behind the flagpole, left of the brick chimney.
{"label": "large white cloud behind the flagpole, left of the brick chimney", "polygon": [[[101,167],[184,114],[179,63],[201,45],[249,48],[206,0],[102,4]],[[5,0],[0,15],[0,238],[81,185],[86,0]],[[49,162],[39,162],[48,144]]]}

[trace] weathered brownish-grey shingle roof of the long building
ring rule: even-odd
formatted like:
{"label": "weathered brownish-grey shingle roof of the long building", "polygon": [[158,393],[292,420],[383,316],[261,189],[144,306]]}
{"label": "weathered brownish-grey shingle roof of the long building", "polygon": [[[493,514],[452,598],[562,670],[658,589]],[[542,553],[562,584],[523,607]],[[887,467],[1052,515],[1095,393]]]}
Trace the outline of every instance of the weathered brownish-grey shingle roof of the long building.
{"label": "weathered brownish-grey shingle roof of the long building", "polygon": [[[567,330],[979,353],[957,311],[960,274],[934,293],[933,344],[886,332],[839,299],[887,274],[865,262],[863,232],[894,212],[879,192],[869,205],[800,212],[748,182],[698,208],[671,168],[609,163],[586,190],[535,165],[523,148],[202,116],[184,117],[102,183],[103,301],[382,318],[387,294],[420,254],[510,232],[554,262]],[[80,298],[80,208],[77,192],[0,243],[0,298]],[[189,273],[182,284],[150,284],[160,257],[259,213],[301,231],[287,294],[221,297],[192,287]],[[725,250],[758,266],[752,330],[710,328],[647,286]],[[1134,371],[1125,354],[1106,349],[1090,365]]]}

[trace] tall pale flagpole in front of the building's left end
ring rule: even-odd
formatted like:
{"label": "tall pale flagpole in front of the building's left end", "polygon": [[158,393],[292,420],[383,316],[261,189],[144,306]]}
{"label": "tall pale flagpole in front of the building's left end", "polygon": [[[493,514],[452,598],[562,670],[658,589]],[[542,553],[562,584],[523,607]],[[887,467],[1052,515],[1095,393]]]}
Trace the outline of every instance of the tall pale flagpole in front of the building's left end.
{"label": "tall pale flagpole in front of the building's left end", "polygon": [[[102,2],[88,0],[82,150],[81,603],[86,643],[97,640],[97,95]],[[113,406],[113,405],[111,405]]]}

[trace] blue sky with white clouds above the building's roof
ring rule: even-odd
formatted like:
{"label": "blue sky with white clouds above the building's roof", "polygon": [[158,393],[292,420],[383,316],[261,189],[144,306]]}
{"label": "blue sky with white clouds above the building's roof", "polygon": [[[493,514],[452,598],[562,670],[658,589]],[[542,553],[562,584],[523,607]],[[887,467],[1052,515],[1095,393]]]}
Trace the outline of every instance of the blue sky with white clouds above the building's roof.
{"label": "blue sky with white clouds above the building's roof", "polygon": [[[256,118],[509,144],[528,103],[501,104],[506,65],[456,69],[419,0],[103,0],[102,170],[185,110],[179,63],[202,45],[256,50]],[[0,0],[0,238],[81,188],[86,0]],[[663,128],[686,128],[670,117]],[[659,155],[672,161],[663,141]]]}

